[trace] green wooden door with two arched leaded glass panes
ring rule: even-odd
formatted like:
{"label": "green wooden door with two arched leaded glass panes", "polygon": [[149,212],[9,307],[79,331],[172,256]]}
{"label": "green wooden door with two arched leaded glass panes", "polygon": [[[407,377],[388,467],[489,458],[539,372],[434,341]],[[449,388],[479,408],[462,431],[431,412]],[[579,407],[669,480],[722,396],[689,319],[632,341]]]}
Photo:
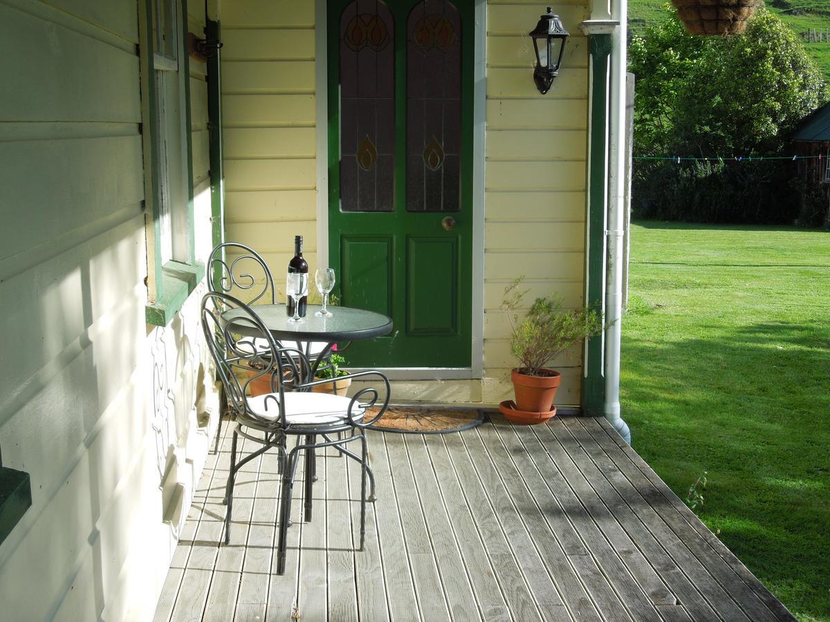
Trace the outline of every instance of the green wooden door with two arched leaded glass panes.
{"label": "green wooden door with two arched leaded glass panes", "polygon": [[329,241],[393,318],[354,367],[470,367],[472,0],[330,0]]}

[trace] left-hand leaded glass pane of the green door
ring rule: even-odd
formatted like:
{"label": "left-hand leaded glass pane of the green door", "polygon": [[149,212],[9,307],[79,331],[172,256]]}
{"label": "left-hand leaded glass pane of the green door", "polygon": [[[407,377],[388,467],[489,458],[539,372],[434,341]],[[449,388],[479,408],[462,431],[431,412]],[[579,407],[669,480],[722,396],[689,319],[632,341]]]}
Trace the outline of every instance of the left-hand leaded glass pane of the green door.
{"label": "left-hand leaded glass pane of the green door", "polygon": [[392,211],[395,168],[393,19],[379,0],[340,14],[340,209]]}

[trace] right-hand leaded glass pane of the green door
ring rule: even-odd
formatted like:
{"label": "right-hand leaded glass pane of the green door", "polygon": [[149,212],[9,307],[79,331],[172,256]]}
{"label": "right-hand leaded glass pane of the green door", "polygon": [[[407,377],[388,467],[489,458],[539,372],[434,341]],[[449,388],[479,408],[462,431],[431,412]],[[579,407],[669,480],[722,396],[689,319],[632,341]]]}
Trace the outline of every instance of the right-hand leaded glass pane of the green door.
{"label": "right-hand leaded glass pane of the green door", "polygon": [[447,0],[407,19],[407,210],[461,207],[461,17]]}

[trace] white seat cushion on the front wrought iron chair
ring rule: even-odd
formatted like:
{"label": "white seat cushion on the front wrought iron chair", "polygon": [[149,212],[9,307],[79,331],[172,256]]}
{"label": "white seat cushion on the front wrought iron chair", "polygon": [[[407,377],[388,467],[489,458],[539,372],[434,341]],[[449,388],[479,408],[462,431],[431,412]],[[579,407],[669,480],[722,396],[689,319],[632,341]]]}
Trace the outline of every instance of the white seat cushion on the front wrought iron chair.
{"label": "white seat cushion on the front wrought iron chair", "polygon": [[[266,405],[268,396],[273,396],[273,399],[268,400]],[[280,417],[279,399],[278,393],[249,397],[248,406],[254,415],[265,420],[276,421]],[[349,397],[335,396],[331,393],[291,391],[285,394],[285,399],[288,425],[331,425],[349,420],[348,412],[351,403]],[[355,420],[360,420],[363,415],[363,407],[355,402],[352,416]]]}

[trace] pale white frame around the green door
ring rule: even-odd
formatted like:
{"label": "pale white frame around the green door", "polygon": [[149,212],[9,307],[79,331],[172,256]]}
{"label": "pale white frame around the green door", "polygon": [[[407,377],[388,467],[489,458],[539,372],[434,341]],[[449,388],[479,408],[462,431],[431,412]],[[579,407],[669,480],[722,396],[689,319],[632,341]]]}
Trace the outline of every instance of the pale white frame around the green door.
{"label": "pale white frame around the green door", "polygon": [[[384,370],[395,380],[471,379],[484,377],[484,210],[486,138],[487,2],[475,0],[473,58],[473,163],[472,163],[472,284],[470,367],[395,367]],[[315,104],[317,157],[317,262],[329,263],[329,82],[328,2],[315,5]]]}

